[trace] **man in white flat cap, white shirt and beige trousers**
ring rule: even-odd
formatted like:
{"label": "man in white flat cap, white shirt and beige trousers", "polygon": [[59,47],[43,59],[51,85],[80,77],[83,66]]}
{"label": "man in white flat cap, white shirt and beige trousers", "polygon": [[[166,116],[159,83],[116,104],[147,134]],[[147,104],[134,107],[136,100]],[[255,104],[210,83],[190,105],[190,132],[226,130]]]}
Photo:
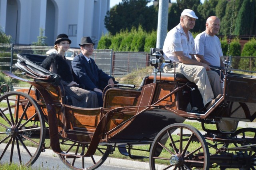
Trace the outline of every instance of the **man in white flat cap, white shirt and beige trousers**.
{"label": "man in white flat cap, white shirt and beige trousers", "polygon": [[[170,30],[166,36],[163,52],[166,60],[176,62],[176,73],[181,73],[189,81],[196,83],[204,106],[208,110],[222,97],[222,84],[218,73],[211,71],[209,65],[198,62],[194,57],[196,54],[194,38],[189,30],[194,28],[196,19],[198,17],[194,11],[183,10],[180,24]],[[164,72],[174,73],[173,67],[173,64],[165,65]],[[219,94],[216,99],[214,94]]]}

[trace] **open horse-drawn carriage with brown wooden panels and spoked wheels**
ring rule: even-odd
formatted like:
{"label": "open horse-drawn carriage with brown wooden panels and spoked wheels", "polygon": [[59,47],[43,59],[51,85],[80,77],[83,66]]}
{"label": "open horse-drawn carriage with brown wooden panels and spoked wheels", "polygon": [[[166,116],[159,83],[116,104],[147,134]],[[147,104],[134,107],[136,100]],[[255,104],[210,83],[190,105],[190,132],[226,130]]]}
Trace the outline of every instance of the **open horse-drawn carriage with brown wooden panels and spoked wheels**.
{"label": "open horse-drawn carriage with brown wooden panels and spoked wheels", "polygon": [[[4,71],[31,86],[0,96],[0,162],[8,157],[30,166],[51,148],[69,168],[95,169],[119,150],[132,159],[149,158],[152,170],[208,170],[213,163],[255,170],[256,129],[237,127],[256,117],[256,77],[224,71],[224,94],[202,112],[193,109],[202,106],[197,86],[180,74],[159,72],[164,60],[151,51],[152,75],[138,88],[107,89],[101,108],[72,106],[60,77],[40,67],[44,56],[18,54],[16,66],[34,81]],[[200,122],[205,134],[184,124],[186,119]],[[149,156],[134,155],[136,145],[150,146],[141,150]]]}

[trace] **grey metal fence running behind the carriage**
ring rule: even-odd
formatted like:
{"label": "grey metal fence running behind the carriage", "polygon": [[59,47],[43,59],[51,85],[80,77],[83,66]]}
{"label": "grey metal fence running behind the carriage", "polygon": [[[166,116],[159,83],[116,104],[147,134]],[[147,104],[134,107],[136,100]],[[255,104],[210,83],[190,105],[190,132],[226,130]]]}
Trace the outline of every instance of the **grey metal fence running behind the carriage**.
{"label": "grey metal fence running behind the carriage", "polygon": [[[18,71],[14,65],[17,62],[18,53],[46,55],[46,52],[50,49],[53,49],[53,47],[0,43],[0,72],[11,71],[15,74],[21,74],[21,71]],[[70,51],[72,51],[72,55],[70,55],[72,59],[74,55],[80,53],[80,48],[72,48]],[[150,57],[152,56],[145,52],[118,52],[111,49],[95,49],[92,55],[100,69],[119,78],[136,69],[149,66]],[[224,60],[226,60],[226,56],[223,57]],[[229,60],[234,69],[256,70],[256,57],[230,57]]]}

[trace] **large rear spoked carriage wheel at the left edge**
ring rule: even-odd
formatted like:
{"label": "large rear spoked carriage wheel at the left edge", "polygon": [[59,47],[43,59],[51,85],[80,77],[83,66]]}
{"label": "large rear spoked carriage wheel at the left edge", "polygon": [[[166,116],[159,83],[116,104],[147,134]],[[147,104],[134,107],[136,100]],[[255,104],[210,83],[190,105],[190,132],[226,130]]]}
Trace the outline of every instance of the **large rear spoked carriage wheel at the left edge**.
{"label": "large rear spoked carriage wheel at the left edge", "polygon": [[26,93],[7,92],[0,103],[0,163],[30,166],[45,140],[42,110]]}

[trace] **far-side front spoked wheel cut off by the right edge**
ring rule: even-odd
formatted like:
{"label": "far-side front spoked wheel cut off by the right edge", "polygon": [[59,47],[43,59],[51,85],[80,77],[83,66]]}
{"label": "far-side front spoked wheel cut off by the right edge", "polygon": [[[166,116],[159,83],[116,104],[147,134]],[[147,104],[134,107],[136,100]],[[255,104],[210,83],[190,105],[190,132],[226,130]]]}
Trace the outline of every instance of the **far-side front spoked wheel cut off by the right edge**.
{"label": "far-side front spoked wheel cut off by the right edge", "polygon": [[[242,144],[234,143],[236,147],[244,146],[244,145],[250,145],[250,144],[255,144],[256,143],[256,128],[241,128],[236,130],[233,134],[231,134],[231,137],[236,137],[236,138],[241,138],[244,139]],[[243,154],[246,154],[246,156],[249,156],[251,159],[250,165],[247,164],[245,165],[246,167],[242,168],[243,169],[251,169],[251,170],[256,170],[256,152],[255,151],[249,151],[249,150],[244,150],[240,151]]]}

